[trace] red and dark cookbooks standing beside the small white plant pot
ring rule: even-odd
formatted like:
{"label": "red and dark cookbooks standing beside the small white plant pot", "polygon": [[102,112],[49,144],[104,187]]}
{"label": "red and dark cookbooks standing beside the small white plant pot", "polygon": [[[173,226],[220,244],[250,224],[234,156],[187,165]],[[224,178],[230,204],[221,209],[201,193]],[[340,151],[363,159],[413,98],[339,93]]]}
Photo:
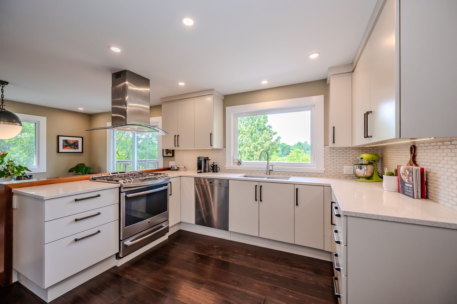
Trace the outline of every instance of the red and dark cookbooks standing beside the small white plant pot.
{"label": "red and dark cookbooks standing beside the small white plant pot", "polygon": [[425,198],[425,168],[397,166],[399,192],[412,198]]}

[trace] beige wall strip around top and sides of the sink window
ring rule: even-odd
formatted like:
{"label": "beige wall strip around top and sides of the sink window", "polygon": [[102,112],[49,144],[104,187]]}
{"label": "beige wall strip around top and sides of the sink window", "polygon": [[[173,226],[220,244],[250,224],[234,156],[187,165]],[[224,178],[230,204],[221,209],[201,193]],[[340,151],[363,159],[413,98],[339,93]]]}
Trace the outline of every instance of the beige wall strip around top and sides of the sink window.
{"label": "beige wall strip around top and sides of the sink window", "polygon": [[[284,85],[257,91],[225,95],[224,99],[224,147],[225,147],[225,107],[246,105],[251,103],[292,99],[299,97],[324,95],[324,145],[329,144],[329,88],[326,79]],[[165,130],[166,131],[166,130]]]}

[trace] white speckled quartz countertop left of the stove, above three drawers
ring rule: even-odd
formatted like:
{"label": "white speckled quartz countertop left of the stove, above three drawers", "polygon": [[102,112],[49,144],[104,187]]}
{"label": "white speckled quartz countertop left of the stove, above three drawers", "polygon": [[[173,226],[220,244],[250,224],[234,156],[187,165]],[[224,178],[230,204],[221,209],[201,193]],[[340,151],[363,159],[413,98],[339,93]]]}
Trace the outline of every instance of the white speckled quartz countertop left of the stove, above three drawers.
{"label": "white speckled quartz countertop left of the stove, above three drawers", "polygon": [[12,189],[13,193],[22,194],[38,199],[51,199],[68,195],[117,188],[119,184],[111,184],[100,181],[70,181],[59,184],[33,186]]}

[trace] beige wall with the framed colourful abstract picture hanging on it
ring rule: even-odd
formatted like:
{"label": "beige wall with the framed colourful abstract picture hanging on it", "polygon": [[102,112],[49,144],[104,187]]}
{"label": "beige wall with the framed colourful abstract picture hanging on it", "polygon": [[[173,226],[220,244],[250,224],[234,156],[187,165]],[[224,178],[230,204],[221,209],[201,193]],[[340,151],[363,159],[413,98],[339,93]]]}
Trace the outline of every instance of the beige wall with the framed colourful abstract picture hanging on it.
{"label": "beige wall with the framed colourful abstract picture hanging on it", "polygon": [[[33,177],[70,176],[68,170],[78,163],[93,166],[90,158],[90,114],[42,107],[28,103],[5,100],[8,111],[46,117],[46,172],[33,173]],[[57,135],[83,137],[83,153],[57,153]]]}

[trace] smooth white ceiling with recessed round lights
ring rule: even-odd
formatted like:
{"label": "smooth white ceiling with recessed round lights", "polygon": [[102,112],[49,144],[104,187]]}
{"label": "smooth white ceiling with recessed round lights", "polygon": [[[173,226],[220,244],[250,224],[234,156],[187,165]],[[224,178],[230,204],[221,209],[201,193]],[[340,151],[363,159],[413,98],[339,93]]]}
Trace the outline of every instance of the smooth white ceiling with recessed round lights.
{"label": "smooth white ceiling with recessed round lights", "polygon": [[[206,89],[233,94],[323,79],[329,67],[352,62],[375,3],[2,1],[0,80],[10,82],[6,99],[95,113],[111,110],[111,73],[123,69],[151,80],[151,105]],[[183,26],[182,16],[195,25]],[[318,59],[308,59],[313,52]]]}

